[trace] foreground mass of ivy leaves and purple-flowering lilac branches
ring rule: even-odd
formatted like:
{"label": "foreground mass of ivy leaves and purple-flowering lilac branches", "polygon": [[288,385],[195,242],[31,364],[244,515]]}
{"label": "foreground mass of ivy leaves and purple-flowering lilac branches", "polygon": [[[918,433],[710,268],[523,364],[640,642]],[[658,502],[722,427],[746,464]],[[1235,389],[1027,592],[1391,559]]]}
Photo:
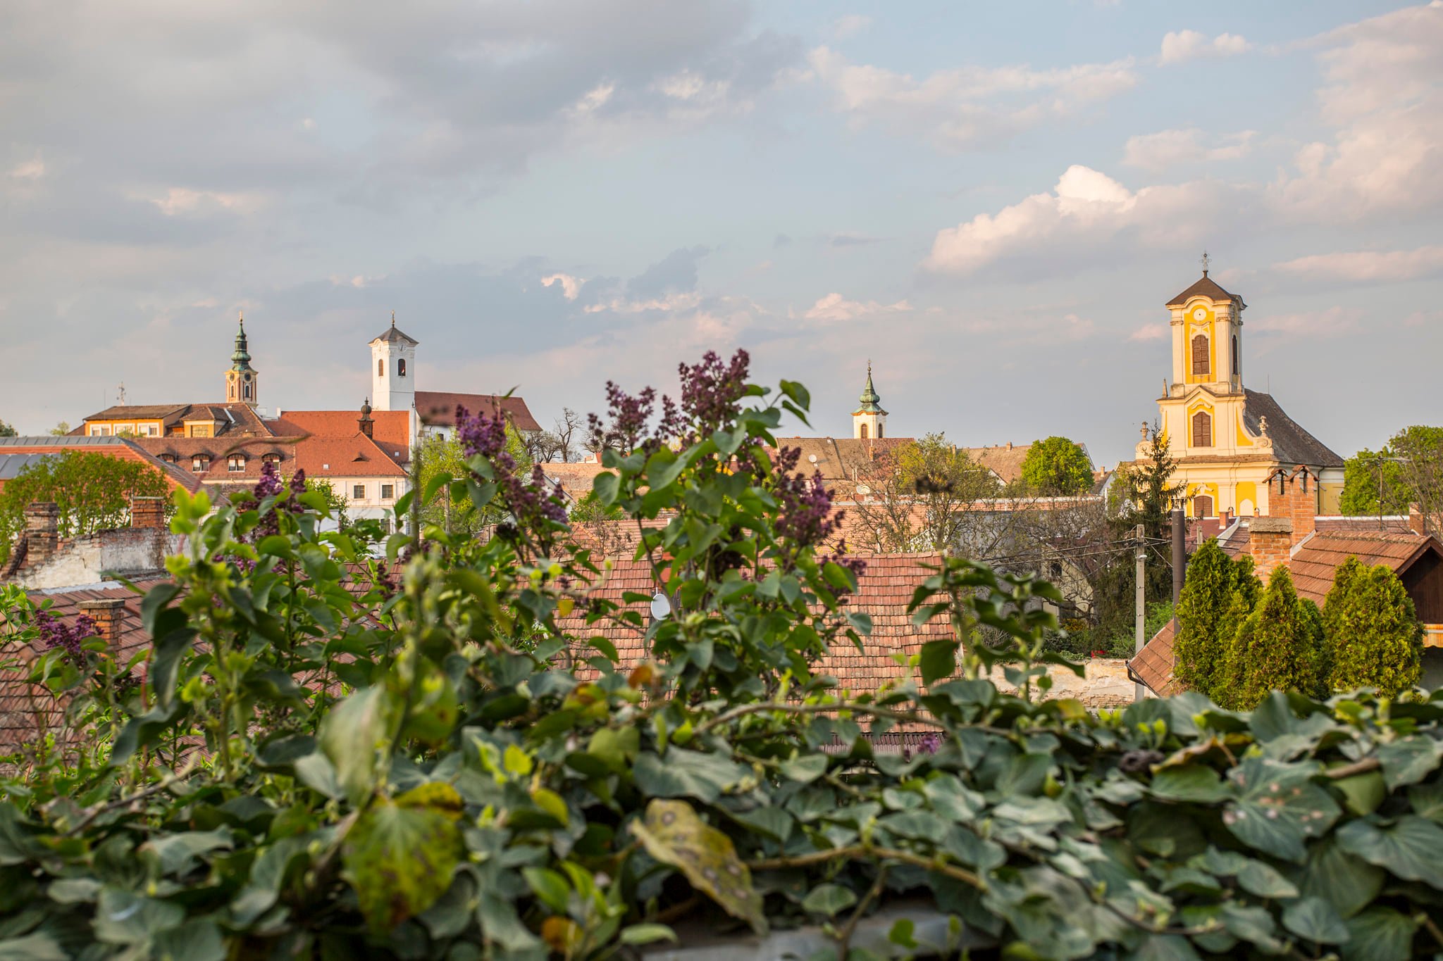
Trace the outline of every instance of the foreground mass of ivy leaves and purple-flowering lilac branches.
{"label": "foreground mass of ivy leaves and purple-flowering lilac branches", "polygon": [[[677,601],[652,624],[587,595],[606,565],[567,549],[486,418],[450,493],[509,520],[485,543],[391,537],[400,584],[367,522],[317,532],[299,486],[209,516],[182,497],[143,689],[82,697],[87,736],[6,785],[0,957],[603,958],[693,918],[823,922],[872,958],[848,952],[856,919],[908,892],[954,915],[952,944],[898,922],[895,957],[1443,948],[1443,696],[1033,699],[1055,591],[961,559],[912,605],[951,638],[893,689],[835,692],[814,664],[866,644],[856,565],[820,555],[825,491],[769,448],[805,390],[740,406],[762,399],[745,373],[684,370],[657,432],[648,395],[613,390],[635,452],[608,450],[597,499],[677,511],[638,550]],[[10,608],[39,680],[115,683],[104,644]],[[648,657],[618,663],[602,624]],[[1023,696],[978,679],[1000,658]],[[925,746],[870,748],[899,726]]]}

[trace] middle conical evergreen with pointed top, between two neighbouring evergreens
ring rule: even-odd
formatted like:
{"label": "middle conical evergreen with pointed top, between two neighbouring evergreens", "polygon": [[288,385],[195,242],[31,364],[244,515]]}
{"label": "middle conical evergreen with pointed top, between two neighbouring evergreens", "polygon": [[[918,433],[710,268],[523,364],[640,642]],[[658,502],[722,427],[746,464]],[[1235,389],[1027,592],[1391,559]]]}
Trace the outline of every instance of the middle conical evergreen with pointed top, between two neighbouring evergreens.
{"label": "middle conical evergreen with pointed top, between two neighbouring evergreens", "polygon": [[1251,710],[1274,690],[1322,693],[1322,618],[1306,609],[1287,568],[1276,568],[1261,602],[1234,638],[1231,670],[1237,686],[1227,706]]}

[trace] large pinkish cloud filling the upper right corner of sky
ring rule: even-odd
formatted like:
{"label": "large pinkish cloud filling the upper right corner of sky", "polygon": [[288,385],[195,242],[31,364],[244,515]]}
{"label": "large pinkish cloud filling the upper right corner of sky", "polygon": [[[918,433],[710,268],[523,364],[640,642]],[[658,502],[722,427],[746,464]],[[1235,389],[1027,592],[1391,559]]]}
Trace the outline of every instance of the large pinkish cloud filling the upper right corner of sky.
{"label": "large pinkish cloud filling the upper right corner of sky", "polygon": [[1297,150],[1296,169],[1271,187],[1276,209],[1348,223],[1443,203],[1443,3],[1352,23],[1313,43],[1328,79],[1319,109],[1336,134]]}

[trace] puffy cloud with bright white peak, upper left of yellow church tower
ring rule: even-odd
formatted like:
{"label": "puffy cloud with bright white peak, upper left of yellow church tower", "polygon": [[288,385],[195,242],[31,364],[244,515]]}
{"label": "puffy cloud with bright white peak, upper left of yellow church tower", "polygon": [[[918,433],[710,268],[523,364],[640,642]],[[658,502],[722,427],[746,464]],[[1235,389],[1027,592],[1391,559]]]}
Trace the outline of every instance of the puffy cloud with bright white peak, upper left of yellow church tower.
{"label": "puffy cloud with bright white peak, upper left of yellow church tower", "polygon": [[967,277],[1000,262],[1101,258],[1115,241],[1150,246],[1190,245],[1216,216],[1228,187],[1206,182],[1143,187],[1136,193],[1107,174],[1074,164],[1051,193],[1036,193],[996,215],[938,231],[922,268]]}

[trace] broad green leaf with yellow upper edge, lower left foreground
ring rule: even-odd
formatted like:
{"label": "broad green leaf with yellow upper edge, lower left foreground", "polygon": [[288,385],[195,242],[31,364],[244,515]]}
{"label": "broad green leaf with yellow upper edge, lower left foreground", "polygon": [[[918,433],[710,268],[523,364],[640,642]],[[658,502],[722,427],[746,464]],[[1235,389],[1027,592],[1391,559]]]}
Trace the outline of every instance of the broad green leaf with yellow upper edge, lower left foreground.
{"label": "broad green leaf with yellow upper edge, lower left foreground", "polygon": [[380,800],[351,828],[342,850],[345,879],[356,892],[361,913],[384,934],[430,908],[450,888],[460,862],[460,798],[449,785],[449,807]]}

